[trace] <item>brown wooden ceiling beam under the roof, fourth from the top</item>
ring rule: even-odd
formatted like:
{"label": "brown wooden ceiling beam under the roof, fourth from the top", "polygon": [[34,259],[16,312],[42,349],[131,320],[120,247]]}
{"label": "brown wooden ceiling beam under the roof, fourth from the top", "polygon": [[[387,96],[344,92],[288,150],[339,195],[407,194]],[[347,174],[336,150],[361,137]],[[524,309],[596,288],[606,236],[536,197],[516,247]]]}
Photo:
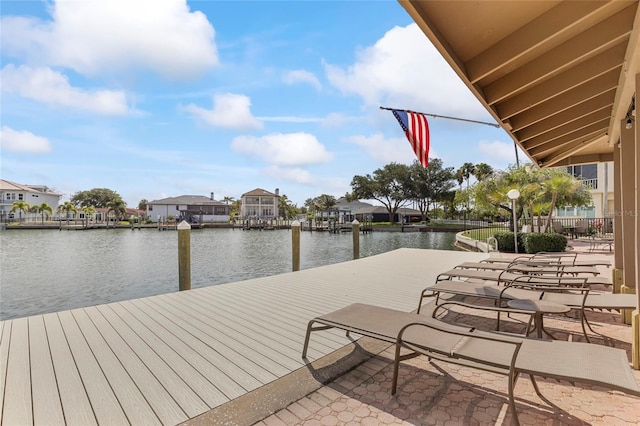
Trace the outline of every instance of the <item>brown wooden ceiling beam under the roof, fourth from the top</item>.
{"label": "brown wooden ceiling beam under the roof, fourth from the top", "polygon": [[[517,131],[603,93],[610,93],[613,101],[615,90],[618,87],[619,75],[620,73],[617,70],[609,71],[585,84],[574,87],[558,99],[543,102],[509,118],[509,122],[512,128]],[[497,112],[500,118],[502,118],[500,110]]]}

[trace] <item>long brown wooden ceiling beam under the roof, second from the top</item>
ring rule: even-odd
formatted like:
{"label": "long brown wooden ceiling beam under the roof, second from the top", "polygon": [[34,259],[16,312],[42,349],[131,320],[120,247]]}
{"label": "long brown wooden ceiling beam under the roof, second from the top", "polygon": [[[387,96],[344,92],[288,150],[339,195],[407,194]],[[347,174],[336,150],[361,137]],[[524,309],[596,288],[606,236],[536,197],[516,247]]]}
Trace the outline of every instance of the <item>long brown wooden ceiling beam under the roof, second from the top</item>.
{"label": "long brown wooden ceiling beam under the roof, second from the top", "polygon": [[584,33],[535,58],[530,63],[484,85],[489,105],[538,84],[551,75],[579,66],[581,61],[628,39],[633,28],[634,9],[623,9]]}

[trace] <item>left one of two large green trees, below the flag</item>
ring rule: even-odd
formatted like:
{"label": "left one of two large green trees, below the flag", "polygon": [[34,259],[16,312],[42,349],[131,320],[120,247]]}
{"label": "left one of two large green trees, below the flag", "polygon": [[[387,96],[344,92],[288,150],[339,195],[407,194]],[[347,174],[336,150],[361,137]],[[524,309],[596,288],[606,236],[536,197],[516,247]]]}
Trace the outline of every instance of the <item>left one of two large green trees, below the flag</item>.
{"label": "left one of two large green trees, below the flag", "polygon": [[353,195],[358,199],[374,199],[382,203],[393,222],[398,209],[409,197],[409,166],[390,163],[373,172],[373,176],[354,176],[351,181]]}

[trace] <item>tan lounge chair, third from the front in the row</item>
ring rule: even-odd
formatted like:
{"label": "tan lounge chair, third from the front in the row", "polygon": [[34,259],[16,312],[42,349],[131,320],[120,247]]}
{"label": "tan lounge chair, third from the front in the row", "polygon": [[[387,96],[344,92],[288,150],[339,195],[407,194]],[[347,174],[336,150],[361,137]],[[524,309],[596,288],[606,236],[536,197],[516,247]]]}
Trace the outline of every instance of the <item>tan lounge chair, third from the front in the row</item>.
{"label": "tan lounge chair, third from the front in the row", "polygon": [[539,282],[541,284],[553,285],[556,283],[557,285],[563,286],[592,286],[592,285],[604,285],[610,286],[613,285],[611,280],[602,277],[577,277],[577,276],[551,276],[551,275],[531,275],[531,274],[522,274],[510,270],[504,271],[489,271],[489,270],[476,270],[476,269],[450,269],[448,271],[442,272],[436,278],[436,282],[441,280],[451,280],[451,279],[459,279],[459,280],[471,280],[474,282],[483,281],[483,282],[495,282],[497,284],[505,284],[513,281],[518,277],[524,277],[524,280],[528,280],[529,282]]}

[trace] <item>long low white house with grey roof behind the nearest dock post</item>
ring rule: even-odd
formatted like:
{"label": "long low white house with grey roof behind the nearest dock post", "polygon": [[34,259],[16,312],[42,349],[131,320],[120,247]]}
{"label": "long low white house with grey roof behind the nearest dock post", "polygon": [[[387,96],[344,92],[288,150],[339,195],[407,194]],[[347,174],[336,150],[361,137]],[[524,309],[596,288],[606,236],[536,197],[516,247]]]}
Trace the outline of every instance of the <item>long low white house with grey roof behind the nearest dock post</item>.
{"label": "long low white house with grey roof behind the nearest dock post", "polygon": [[189,223],[229,222],[229,206],[204,195],[181,195],[147,203],[147,216],[154,221],[172,216]]}

